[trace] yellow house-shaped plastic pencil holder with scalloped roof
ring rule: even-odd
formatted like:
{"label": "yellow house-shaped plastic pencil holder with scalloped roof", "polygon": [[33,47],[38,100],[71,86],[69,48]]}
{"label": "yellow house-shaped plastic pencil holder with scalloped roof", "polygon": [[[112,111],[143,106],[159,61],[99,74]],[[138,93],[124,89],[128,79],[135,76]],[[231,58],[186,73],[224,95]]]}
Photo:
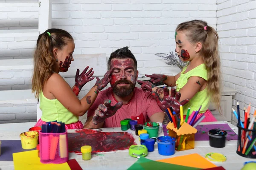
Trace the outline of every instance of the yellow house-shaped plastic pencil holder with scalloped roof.
{"label": "yellow house-shaped plastic pencil holder with scalloped roof", "polygon": [[169,136],[177,139],[175,143],[175,150],[181,151],[194,149],[195,133],[197,133],[196,128],[192,127],[186,122],[184,122],[179,129],[177,129],[177,127],[175,128],[172,122],[169,122],[166,128],[169,130]]}

